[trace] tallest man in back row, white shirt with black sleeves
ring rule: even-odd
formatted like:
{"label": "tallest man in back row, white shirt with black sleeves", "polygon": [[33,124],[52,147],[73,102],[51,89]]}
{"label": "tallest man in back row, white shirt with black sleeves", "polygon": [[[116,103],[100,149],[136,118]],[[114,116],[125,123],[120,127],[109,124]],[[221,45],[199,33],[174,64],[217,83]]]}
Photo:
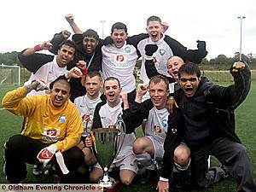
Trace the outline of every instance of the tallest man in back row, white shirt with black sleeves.
{"label": "tallest man in back row, white shirt with black sleeves", "polygon": [[[145,54],[145,46],[147,44],[157,44],[158,49],[154,52],[154,64],[157,71],[160,74],[164,74],[167,77],[170,75],[167,73],[166,63],[172,55],[177,55],[183,58],[183,61],[191,61],[194,63],[200,63],[201,60],[207,55],[206,43],[204,41],[198,41],[198,49],[187,49],[177,42],[177,40],[165,35],[162,32],[162,25],[160,17],[150,16],[147,20],[147,32],[148,37],[145,34],[139,34],[128,38],[128,44],[134,45],[139,51],[139,57],[142,56],[142,67],[140,79],[143,80],[143,84],[148,84],[149,78],[145,70],[145,61],[147,55]],[[148,94],[143,97],[143,100],[148,99]]]}

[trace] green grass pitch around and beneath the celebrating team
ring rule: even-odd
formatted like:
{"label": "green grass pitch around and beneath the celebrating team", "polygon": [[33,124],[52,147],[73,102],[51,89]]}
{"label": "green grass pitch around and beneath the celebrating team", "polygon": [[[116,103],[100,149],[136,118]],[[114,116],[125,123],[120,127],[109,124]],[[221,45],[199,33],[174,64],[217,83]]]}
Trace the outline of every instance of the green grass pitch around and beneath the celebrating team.
{"label": "green grass pitch around and beneath the celebrating team", "polygon": [[[13,86],[5,86],[0,87],[0,101],[2,102],[3,95],[8,90],[14,90]],[[0,105],[2,108],[2,105]],[[236,109],[236,132],[238,136],[241,138],[242,143],[247,147],[247,153],[251,157],[253,162],[253,176],[256,177],[256,140],[254,134],[256,118],[255,118],[255,109],[256,109],[256,83],[253,82],[251,91],[249,96],[245,102],[241,104],[239,108]],[[3,174],[3,143],[5,143],[9,137],[20,132],[20,126],[22,123],[22,118],[16,117],[15,115],[9,113],[6,110],[0,110],[0,127],[1,127],[1,135],[0,135],[0,183],[7,183],[5,180],[5,176]],[[141,131],[138,131],[139,135],[141,135]],[[212,160],[213,165],[217,165],[218,162],[216,160]],[[140,191],[140,192],[153,192],[155,191],[155,186],[158,181],[158,176],[155,176],[154,181],[148,183],[147,185],[138,184],[136,181],[132,183],[130,186],[121,187],[121,191],[131,192],[131,191]],[[28,175],[27,182],[28,183],[50,183],[51,178],[37,178],[32,176],[32,166],[28,166]],[[170,186],[172,189],[172,186]],[[228,179],[222,183],[218,183],[213,185],[208,189],[197,189],[192,190],[193,192],[198,191],[206,191],[206,192],[233,192],[236,189],[236,183],[232,179]],[[172,191],[184,191],[184,190],[172,190]]]}

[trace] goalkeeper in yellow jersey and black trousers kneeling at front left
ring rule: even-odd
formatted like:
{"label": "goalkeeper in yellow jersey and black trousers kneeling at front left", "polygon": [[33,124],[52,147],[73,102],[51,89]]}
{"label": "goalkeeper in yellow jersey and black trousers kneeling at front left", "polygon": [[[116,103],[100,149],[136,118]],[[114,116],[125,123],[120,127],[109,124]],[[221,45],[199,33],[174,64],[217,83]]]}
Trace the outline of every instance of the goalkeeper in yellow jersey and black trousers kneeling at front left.
{"label": "goalkeeper in yellow jersey and black trousers kneeling at front left", "polygon": [[28,117],[21,134],[4,144],[4,172],[9,183],[26,179],[26,163],[46,166],[50,161],[55,165],[56,159],[60,162],[55,156],[62,155],[66,165],[55,166],[56,174],[61,182],[67,182],[67,172],[75,171],[84,162],[84,153],[76,147],[83,125],[77,108],[69,101],[70,84],[66,79],[56,79],[50,88],[49,95],[26,96],[32,90],[45,89],[42,82],[34,80],[3,97],[3,108]]}

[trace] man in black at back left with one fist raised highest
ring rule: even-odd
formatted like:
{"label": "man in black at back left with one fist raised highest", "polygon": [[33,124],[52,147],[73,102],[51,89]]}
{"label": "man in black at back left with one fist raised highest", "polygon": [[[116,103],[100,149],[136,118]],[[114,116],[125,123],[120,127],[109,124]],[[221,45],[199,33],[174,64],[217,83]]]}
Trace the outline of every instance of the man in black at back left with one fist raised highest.
{"label": "man in black at back left with one fist raised highest", "polygon": [[[102,69],[102,45],[103,40],[99,38],[97,32],[92,29],[88,29],[86,32],[82,32],[78,26],[73,22],[72,15],[66,15],[67,21],[70,23],[75,34],[72,39],[77,45],[77,52],[74,55],[73,61],[67,66],[67,69],[73,67],[79,67],[82,69],[84,75],[91,71],[100,71]],[[54,38],[51,40],[53,48],[51,52],[56,54],[59,44],[61,44],[67,36],[63,32],[56,33]],[[81,84],[81,79],[71,79],[71,97],[70,100],[73,102],[78,96],[84,96],[86,90],[83,84]]]}

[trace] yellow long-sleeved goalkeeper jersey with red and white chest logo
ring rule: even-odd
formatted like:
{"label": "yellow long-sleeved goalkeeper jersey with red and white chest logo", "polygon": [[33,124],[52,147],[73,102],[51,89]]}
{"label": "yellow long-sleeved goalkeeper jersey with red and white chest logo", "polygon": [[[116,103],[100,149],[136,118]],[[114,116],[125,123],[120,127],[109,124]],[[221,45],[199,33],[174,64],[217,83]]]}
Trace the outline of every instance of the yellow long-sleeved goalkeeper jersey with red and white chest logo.
{"label": "yellow long-sleeved goalkeeper jersey with red and white chest logo", "polygon": [[9,91],[2,101],[3,108],[19,116],[26,116],[26,137],[55,143],[63,152],[79,143],[83,132],[79,112],[69,100],[59,108],[52,104],[50,95],[26,96],[24,87]]}

